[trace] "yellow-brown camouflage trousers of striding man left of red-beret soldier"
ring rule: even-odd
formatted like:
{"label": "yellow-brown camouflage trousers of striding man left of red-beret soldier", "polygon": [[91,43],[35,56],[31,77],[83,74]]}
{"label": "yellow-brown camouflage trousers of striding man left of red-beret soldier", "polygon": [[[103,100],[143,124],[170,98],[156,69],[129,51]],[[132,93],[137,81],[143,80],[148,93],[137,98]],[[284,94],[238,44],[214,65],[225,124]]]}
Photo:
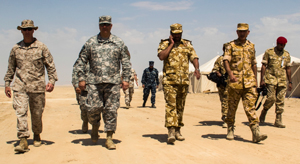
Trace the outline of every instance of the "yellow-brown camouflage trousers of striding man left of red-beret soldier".
{"label": "yellow-brown camouflage trousers of striding man left of red-beret soldier", "polygon": [[242,98],[243,107],[248,117],[249,126],[258,124],[258,117],[255,110],[255,101],[257,98],[256,87],[245,89],[234,89],[228,87],[228,113],[226,123],[232,126],[235,123],[235,114],[240,99]]}

